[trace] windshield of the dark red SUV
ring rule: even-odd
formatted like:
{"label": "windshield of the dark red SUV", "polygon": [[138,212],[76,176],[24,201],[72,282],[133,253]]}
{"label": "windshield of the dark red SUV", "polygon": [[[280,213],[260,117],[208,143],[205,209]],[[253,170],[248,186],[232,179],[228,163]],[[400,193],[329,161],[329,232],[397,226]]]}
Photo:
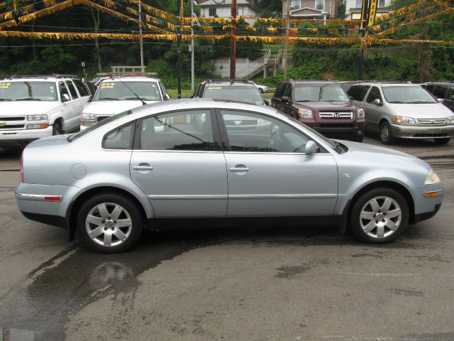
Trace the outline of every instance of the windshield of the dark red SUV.
{"label": "windshield of the dark red SUV", "polygon": [[297,84],[294,102],[350,102],[338,84]]}

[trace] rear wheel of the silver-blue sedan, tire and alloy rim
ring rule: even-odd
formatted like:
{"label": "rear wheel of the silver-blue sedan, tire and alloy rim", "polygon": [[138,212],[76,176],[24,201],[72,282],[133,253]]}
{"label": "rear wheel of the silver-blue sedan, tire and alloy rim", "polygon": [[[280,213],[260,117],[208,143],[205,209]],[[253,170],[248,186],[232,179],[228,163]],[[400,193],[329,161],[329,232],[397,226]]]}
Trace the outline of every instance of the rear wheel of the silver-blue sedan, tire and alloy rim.
{"label": "rear wheel of the silver-blue sedan, tire and alloy rim", "polygon": [[114,254],[133,247],[142,233],[142,222],[133,202],[121,195],[101,193],[80,207],[77,233],[89,249]]}

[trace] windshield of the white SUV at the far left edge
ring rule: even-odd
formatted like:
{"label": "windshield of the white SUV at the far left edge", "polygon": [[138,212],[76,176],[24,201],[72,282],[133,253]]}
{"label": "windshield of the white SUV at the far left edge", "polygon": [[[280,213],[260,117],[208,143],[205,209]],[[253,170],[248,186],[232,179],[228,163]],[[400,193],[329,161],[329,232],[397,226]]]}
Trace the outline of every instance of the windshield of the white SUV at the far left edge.
{"label": "windshield of the white SUV at the far left edge", "polygon": [[0,82],[0,101],[56,101],[55,82]]}

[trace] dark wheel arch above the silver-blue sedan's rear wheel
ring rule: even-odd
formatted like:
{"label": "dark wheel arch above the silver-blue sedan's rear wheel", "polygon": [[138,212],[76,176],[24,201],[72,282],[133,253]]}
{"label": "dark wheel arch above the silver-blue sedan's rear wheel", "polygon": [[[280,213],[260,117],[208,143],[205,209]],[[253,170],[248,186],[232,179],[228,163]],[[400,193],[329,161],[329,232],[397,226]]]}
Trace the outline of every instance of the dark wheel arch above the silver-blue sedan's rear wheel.
{"label": "dark wheel arch above the silver-blue sedan's rear wheel", "polygon": [[79,212],[79,209],[82,206],[83,202],[88,200],[89,197],[93,197],[94,195],[100,194],[100,193],[112,193],[112,194],[123,195],[123,196],[128,197],[128,199],[131,200],[132,202],[134,202],[134,204],[138,207],[138,209],[140,211],[140,215],[143,218],[143,224],[144,225],[146,224],[147,214],[145,212],[145,208],[143,207],[140,200],[138,200],[138,198],[135,197],[135,195],[133,195],[133,193],[130,193],[127,190],[123,190],[122,188],[108,186],[108,185],[90,188],[89,190],[82,192],[78,197],[76,197],[67,211],[66,220],[67,220],[67,228],[68,228],[70,242],[76,236],[77,213]]}

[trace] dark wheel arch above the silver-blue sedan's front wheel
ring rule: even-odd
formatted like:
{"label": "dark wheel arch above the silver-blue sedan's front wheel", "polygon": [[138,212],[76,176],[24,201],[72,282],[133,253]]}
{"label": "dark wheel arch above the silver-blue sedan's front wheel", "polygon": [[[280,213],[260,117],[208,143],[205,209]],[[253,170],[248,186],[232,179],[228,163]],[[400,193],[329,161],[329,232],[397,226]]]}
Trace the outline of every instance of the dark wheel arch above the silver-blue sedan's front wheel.
{"label": "dark wheel arch above the silver-blue sedan's front wheel", "polygon": [[408,189],[404,187],[404,185],[401,185],[400,183],[396,183],[394,181],[389,181],[389,180],[380,180],[376,181],[375,183],[369,183],[365,185],[364,187],[360,188],[355,195],[349,200],[348,205],[346,209],[344,210],[345,212],[345,220],[347,223],[347,227],[350,228],[350,215],[353,210],[353,206],[355,205],[355,202],[358,200],[358,198],[363,195],[364,193],[369,192],[370,190],[374,190],[376,188],[391,188],[392,190],[395,190],[399,194],[401,194],[404,199],[406,200],[407,204],[409,205],[409,223],[414,221],[414,200],[413,197],[411,196],[411,193]]}

